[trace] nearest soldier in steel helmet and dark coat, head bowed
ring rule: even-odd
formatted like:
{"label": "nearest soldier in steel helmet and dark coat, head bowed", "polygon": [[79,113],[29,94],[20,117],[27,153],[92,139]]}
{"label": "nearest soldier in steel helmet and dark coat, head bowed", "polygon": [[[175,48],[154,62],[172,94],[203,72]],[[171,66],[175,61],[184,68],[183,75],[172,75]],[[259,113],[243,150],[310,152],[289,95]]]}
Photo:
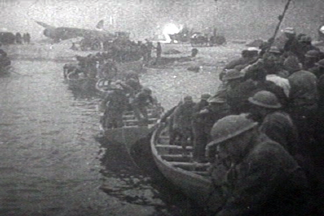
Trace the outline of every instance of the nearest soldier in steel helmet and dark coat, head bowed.
{"label": "nearest soldier in steel helmet and dark coat, head bowed", "polygon": [[216,203],[206,201],[211,215],[307,215],[304,172],[280,144],[260,134],[257,125],[243,114],[214,124],[213,141],[207,146],[210,197],[217,198]]}

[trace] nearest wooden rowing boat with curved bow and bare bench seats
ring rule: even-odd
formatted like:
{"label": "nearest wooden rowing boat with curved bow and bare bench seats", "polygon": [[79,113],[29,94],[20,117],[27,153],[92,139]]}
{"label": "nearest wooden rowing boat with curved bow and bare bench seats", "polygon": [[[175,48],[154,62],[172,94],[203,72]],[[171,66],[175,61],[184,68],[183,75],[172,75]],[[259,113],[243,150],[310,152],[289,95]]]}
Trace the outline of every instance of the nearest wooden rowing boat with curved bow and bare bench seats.
{"label": "nearest wooden rowing boat with curved bow and bare bench seats", "polygon": [[199,206],[206,206],[211,194],[211,180],[207,171],[209,163],[193,162],[192,146],[187,146],[184,154],[181,146],[169,145],[168,127],[165,124],[157,126],[150,145],[152,157],[161,174]]}

